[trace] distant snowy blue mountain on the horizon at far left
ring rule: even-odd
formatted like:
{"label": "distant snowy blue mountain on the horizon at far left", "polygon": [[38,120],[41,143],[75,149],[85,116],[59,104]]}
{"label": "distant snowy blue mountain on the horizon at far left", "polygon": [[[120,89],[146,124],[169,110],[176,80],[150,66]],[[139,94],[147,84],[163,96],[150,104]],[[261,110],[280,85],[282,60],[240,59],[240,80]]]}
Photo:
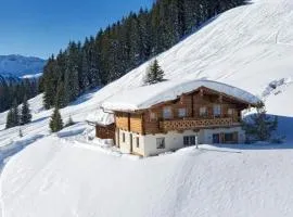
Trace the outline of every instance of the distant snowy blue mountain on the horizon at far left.
{"label": "distant snowy blue mountain on the horizon at far left", "polygon": [[42,73],[46,60],[23,55],[0,55],[0,76],[27,77]]}

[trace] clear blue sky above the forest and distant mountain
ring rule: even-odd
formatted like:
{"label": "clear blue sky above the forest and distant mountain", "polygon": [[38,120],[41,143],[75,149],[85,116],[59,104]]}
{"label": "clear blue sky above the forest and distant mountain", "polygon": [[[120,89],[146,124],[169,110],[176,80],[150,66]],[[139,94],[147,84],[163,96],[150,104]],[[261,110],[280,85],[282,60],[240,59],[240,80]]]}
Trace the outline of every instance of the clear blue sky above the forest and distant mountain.
{"label": "clear blue sky above the forest and distant mountain", "polygon": [[153,0],[0,0],[0,55],[47,59]]}

